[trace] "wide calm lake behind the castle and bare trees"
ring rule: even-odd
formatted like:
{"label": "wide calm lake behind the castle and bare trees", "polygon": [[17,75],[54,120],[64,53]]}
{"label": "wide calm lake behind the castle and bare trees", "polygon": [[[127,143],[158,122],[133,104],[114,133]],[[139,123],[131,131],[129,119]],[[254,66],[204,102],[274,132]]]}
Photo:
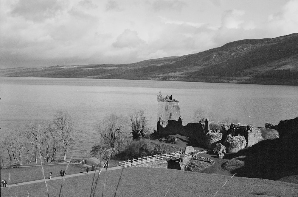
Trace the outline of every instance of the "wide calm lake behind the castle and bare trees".
{"label": "wide calm lake behind the castle and bare trees", "polygon": [[[0,77],[1,135],[31,120],[51,120],[57,111],[66,110],[82,130],[83,144],[74,156],[85,156],[97,143],[96,122],[109,113],[128,116],[144,110],[149,126],[157,128],[159,91],[179,100],[185,125],[193,122],[196,108],[214,114],[218,121],[228,118],[260,127],[298,116],[298,86]],[[1,157],[5,154],[1,150]]]}

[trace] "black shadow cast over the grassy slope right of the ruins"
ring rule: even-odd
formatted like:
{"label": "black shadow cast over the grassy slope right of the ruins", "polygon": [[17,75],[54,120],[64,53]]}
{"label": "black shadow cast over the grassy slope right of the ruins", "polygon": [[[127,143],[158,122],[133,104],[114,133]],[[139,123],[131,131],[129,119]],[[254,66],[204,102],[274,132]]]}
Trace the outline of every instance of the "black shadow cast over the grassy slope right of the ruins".
{"label": "black shadow cast over the grassy slope right of the ruins", "polygon": [[[241,150],[236,157],[244,166],[232,170],[237,176],[278,180],[298,174],[296,144],[284,144],[280,138],[261,141]],[[245,156],[245,157],[244,157]]]}

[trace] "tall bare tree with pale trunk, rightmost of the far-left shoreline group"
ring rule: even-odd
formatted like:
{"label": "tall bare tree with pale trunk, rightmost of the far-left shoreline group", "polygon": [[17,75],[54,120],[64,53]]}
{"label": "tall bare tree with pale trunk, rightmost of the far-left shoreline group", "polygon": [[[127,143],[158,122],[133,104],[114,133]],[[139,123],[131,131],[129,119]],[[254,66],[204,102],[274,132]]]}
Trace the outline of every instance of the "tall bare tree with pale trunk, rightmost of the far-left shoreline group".
{"label": "tall bare tree with pale trunk, rightmost of the far-left shoreline group", "polygon": [[66,111],[58,111],[53,120],[53,136],[59,141],[63,149],[63,161],[69,148],[78,142],[80,131],[74,121],[74,117]]}

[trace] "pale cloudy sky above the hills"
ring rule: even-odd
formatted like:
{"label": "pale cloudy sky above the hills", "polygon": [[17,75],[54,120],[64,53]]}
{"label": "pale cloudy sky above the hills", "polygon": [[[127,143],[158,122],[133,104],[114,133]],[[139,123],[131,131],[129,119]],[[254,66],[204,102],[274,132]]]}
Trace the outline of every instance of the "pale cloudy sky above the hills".
{"label": "pale cloudy sky above the hills", "polygon": [[298,33],[298,0],[0,0],[0,68],[120,64]]}

